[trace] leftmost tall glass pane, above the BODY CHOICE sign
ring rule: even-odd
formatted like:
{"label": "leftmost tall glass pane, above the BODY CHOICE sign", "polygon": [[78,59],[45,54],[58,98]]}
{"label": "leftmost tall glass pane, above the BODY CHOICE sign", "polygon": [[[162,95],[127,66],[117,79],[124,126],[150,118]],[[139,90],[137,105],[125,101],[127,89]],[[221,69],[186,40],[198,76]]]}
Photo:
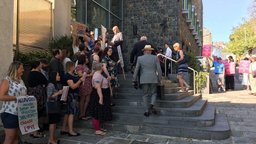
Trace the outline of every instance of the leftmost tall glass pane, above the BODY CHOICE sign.
{"label": "leftmost tall glass pane, above the BODY CHOICE sign", "polygon": [[[76,0],[76,21],[85,24],[85,1],[86,0]],[[72,5],[71,5],[71,17],[72,17]]]}

